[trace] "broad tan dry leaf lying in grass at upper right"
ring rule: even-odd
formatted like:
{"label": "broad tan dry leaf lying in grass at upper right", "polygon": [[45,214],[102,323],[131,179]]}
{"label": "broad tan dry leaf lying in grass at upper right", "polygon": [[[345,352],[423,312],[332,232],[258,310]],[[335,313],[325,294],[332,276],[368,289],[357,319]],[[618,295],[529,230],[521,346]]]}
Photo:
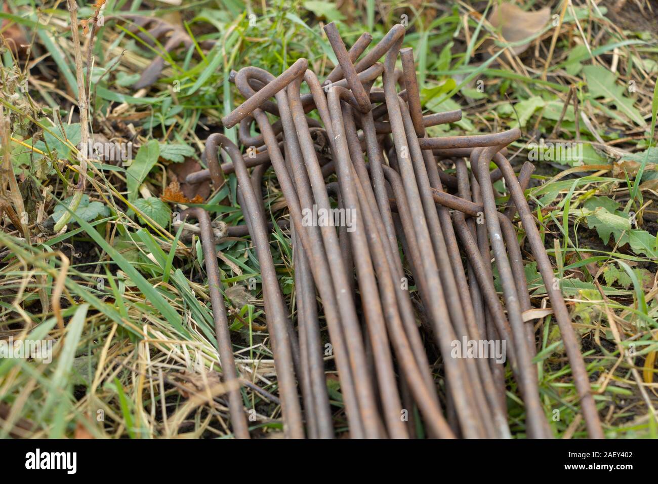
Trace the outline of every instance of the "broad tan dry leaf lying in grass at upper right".
{"label": "broad tan dry leaf lying in grass at upper right", "polygon": [[[494,27],[501,29],[501,35],[505,40],[518,42],[540,32],[549,18],[551,18],[551,9],[548,7],[535,12],[526,12],[511,3],[503,3],[493,7],[489,22]],[[530,43],[524,43],[511,47],[511,51],[518,55],[528,47],[530,47]]]}

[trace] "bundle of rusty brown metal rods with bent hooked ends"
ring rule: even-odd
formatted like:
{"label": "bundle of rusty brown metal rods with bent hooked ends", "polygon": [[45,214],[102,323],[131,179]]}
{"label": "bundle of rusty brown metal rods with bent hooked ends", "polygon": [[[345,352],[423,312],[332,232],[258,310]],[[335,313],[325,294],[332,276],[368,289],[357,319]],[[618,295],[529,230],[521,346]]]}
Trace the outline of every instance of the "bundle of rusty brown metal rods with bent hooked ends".
{"label": "bundle of rusty brown metal rods with bent hooked ends", "polygon": [[[350,437],[409,438],[420,437],[419,431],[438,438],[511,437],[506,363],[455,356],[456,342],[467,341],[504,342],[525,408],[525,433],[551,437],[532,363],[534,324],[524,319],[531,300],[515,230],[520,222],[561,331],[588,434],[602,437],[569,311],[524,198],[534,167],[526,163],[517,177],[505,157],[519,129],[428,137],[428,126],[459,121],[461,111],[423,115],[413,51],[401,49],[405,28],[393,26],[367,53],[370,34],[347,51],[333,23],[324,30],[338,65],[322,84],[305,59],[278,77],[256,67],[232,74],[245,101],[222,123],[226,128],[239,123],[246,152],[213,134],[205,147],[209,169],[186,180],[220,184],[231,172],[238,178],[238,201],[261,267],[286,436],[336,435],[338,410],[326,387],[321,314]],[[401,70],[395,68],[398,56]],[[374,88],[379,76],[383,89]],[[303,82],[309,94],[300,94]],[[307,116],[314,110],[319,121]],[[252,134],[254,122],[259,134]],[[226,163],[219,162],[220,149],[230,159]],[[456,176],[443,172],[438,160],[453,160]],[[492,162],[497,169],[490,172]],[[291,219],[296,331],[270,253],[261,192],[270,165]],[[326,182],[334,173],[337,180]],[[509,194],[503,211],[493,187],[501,178]],[[309,213],[353,217],[336,229]],[[200,223],[228,382],[238,376],[215,238],[205,211],[193,209],[190,215]],[[410,292],[413,286],[417,292]],[[234,434],[249,437],[238,385],[230,388]]]}

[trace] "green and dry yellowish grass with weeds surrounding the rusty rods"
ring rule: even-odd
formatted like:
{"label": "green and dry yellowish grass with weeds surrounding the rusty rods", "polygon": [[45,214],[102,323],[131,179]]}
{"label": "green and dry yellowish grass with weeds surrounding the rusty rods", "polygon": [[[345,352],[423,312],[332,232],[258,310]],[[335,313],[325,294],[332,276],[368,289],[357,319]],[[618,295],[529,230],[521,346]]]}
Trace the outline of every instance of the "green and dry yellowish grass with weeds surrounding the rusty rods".
{"label": "green and dry yellowish grass with weeds surrounding the rusty rods", "polygon": [[[79,18],[93,16],[90,3],[78,3]],[[127,25],[106,20],[99,27],[89,94],[95,136],[130,140],[142,155],[134,166],[90,163],[86,194],[99,203],[89,203],[98,213],[72,212],[59,234],[49,231],[48,219],[55,207],[66,210],[61,202],[72,195],[80,167],[66,2],[51,0],[37,9],[33,0],[10,0],[9,11],[0,13],[7,21],[3,36],[20,25],[32,46],[29,59],[6,46],[1,51],[0,105],[9,123],[3,130],[11,135],[2,152],[11,157],[18,183],[7,188],[3,180],[0,202],[16,208],[19,190],[31,231],[28,240],[9,215],[0,219],[0,338],[55,341],[52,363],[0,360],[0,437],[230,437],[222,389],[211,385],[221,368],[201,246],[171,225],[176,207],[155,200],[173,175],[201,161],[202,140],[241,102],[229,83],[232,69],[254,65],[279,74],[305,57],[320,78],[328,74],[335,59],[320,26],[329,20],[338,20],[347,45],[365,30],[378,41],[393,24],[407,22],[405,47],[415,50],[424,107],[464,112],[461,122],[430,128],[433,136],[519,126],[523,136],[510,147],[514,165],[540,140],[582,144],[582,160],[534,161],[528,200],[582,336],[606,436],[657,437],[651,408],[658,405],[658,55],[657,32],[645,20],[653,4],[640,1],[643,14],[630,3],[619,13],[611,1],[573,1],[559,27],[551,20],[524,39],[528,50],[515,55],[519,42],[505,43],[478,14],[497,1],[366,0],[341,11],[294,0],[272,2],[265,11],[240,0],[136,3],[142,14],[178,24],[193,42],[166,55]],[[107,1],[106,18],[124,4]],[[558,16],[563,6],[524,5],[546,5]],[[201,49],[205,40],[216,41],[215,47]],[[132,90],[156,55],[168,61],[157,82]],[[235,128],[227,135],[235,139]],[[159,156],[149,158],[147,146],[158,146]],[[180,146],[191,149],[176,157],[172,150]],[[130,177],[139,192],[126,192]],[[272,220],[286,217],[271,171],[265,186]],[[505,187],[497,184],[497,190],[504,203]],[[213,218],[243,223],[234,175],[205,199],[201,205]],[[276,227],[271,242],[294,309],[290,234]],[[249,296],[243,304],[226,295],[238,367],[244,379],[276,394],[251,241],[227,238],[218,250],[222,289],[240,284]],[[533,305],[541,308],[546,293],[531,259],[526,272]],[[553,434],[586,437],[557,325],[547,315],[536,326],[541,347],[535,362]],[[344,429],[340,386],[331,358],[327,362],[336,429]],[[507,383],[510,427],[523,438],[524,408],[511,374]],[[251,387],[242,394],[253,411],[252,434],[280,432],[276,403]]]}

